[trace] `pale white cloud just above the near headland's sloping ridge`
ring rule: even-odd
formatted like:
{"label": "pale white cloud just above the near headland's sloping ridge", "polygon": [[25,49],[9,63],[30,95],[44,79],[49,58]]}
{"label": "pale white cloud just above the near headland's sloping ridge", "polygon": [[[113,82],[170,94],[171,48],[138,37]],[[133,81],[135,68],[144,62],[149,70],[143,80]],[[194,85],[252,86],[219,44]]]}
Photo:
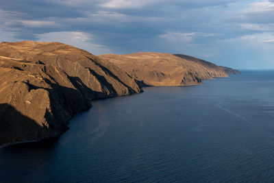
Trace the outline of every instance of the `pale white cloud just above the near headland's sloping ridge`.
{"label": "pale white cloud just above the near headland's sloping ridge", "polygon": [[85,49],[95,55],[110,53],[110,49],[104,45],[97,45],[92,34],[86,32],[50,32],[45,34],[36,34],[38,41],[62,42],[67,45],[73,45],[79,49]]}

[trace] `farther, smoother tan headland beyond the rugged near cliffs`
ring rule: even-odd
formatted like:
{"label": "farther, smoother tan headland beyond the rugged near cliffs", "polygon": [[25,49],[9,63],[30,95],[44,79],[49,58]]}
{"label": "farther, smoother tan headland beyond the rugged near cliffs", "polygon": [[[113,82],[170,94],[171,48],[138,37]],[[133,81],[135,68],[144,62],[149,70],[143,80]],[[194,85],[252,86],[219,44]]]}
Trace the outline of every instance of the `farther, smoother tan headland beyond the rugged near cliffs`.
{"label": "farther, smoother tan headland beyond the rugged near cliffs", "polygon": [[227,77],[221,66],[184,55],[132,53],[100,57],[120,66],[135,80],[149,86],[187,86],[214,77]]}

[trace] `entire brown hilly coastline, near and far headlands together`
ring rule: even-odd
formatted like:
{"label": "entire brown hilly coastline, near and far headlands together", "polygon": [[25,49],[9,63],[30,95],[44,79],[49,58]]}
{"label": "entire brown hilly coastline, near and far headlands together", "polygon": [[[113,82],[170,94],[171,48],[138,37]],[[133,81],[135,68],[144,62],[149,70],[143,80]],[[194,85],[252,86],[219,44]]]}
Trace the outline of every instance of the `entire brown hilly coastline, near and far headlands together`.
{"label": "entire brown hilly coastline, near and far headlands together", "polygon": [[238,74],[182,54],[94,56],[60,42],[0,43],[0,147],[62,134],[90,101]]}

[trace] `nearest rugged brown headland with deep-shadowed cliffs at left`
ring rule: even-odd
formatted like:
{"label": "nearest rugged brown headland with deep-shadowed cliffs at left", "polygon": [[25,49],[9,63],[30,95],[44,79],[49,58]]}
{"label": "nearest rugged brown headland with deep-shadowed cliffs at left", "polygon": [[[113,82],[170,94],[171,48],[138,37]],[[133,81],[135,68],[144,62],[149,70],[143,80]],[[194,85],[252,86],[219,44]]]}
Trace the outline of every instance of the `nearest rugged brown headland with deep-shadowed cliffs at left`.
{"label": "nearest rugged brown headland with deep-shadowed cliffs at left", "polygon": [[0,44],[0,145],[66,130],[91,99],[140,93],[125,71],[58,42]]}

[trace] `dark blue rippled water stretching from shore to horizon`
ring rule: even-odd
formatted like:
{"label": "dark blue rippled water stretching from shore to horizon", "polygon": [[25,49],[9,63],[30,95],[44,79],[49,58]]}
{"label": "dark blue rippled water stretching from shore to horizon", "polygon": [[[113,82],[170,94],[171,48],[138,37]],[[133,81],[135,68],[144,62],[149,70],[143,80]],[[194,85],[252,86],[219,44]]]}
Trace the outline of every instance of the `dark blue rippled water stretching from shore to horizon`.
{"label": "dark blue rippled water stretching from shore to horizon", "polygon": [[273,119],[274,71],[145,88],[0,149],[0,182],[274,182]]}

